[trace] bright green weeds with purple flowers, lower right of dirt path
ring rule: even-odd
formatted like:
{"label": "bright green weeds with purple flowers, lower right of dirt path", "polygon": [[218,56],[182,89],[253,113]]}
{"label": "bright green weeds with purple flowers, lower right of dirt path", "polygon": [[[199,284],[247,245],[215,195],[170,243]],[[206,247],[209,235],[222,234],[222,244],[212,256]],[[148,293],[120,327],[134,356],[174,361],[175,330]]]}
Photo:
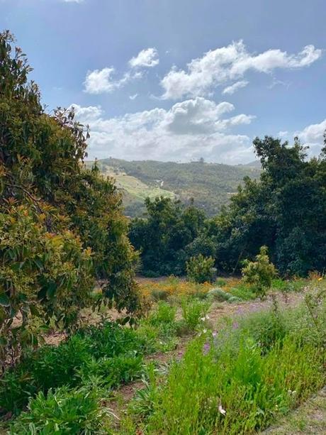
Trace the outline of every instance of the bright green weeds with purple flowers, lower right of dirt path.
{"label": "bright green weeds with purple flowers, lower right of dirt path", "polygon": [[120,433],[250,434],[298,406],[326,382],[322,295],[194,338],[167,378],[135,397]]}

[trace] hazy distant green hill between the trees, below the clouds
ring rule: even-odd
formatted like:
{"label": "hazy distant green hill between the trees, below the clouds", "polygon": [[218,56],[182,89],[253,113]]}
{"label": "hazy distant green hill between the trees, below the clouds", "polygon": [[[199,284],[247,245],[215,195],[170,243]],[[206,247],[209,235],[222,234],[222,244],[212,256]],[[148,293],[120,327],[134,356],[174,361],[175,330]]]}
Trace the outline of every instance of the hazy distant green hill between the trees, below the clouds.
{"label": "hazy distant green hill between the trees, below the clouds", "polygon": [[[258,178],[261,170],[252,165],[222,165],[218,163],[174,163],[154,160],[98,160],[103,174],[116,179],[124,194],[125,214],[142,216],[146,197],[178,198],[196,207],[208,216],[217,214],[237,191],[245,176]],[[92,162],[86,162],[86,166]]]}

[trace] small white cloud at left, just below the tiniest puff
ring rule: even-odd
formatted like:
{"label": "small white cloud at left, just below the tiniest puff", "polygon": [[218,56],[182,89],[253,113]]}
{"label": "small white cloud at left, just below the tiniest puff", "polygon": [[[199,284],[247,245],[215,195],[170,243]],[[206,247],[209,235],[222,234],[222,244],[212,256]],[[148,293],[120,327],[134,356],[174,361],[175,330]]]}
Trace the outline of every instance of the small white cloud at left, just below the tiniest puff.
{"label": "small white cloud at left, just below the tiniest puff", "polygon": [[125,72],[121,79],[113,79],[115,69],[113,67],[106,67],[103,70],[89,71],[86,74],[84,81],[85,92],[88,94],[101,94],[103,92],[111,93],[114,90],[125,86],[133,79],[142,77],[141,72]]}

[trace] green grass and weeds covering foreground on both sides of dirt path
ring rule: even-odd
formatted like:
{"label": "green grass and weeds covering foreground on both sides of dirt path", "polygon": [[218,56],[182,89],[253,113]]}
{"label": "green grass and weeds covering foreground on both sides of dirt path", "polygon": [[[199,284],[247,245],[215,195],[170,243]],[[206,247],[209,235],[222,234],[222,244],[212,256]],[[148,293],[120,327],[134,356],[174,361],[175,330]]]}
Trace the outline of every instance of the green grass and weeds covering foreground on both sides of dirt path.
{"label": "green grass and weeds covering foreground on both sides of dirt path", "polygon": [[[152,283],[142,286],[152,289]],[[322,292],[314,296],[324,282],[310,282],[303,307],[281,310],[274,301],[267,312],[218,324],[207,316],[212,301],[206,294],[215,284],[174,277],[154,284],[154,290],[168,288],[169,296],[154,304],[137,329],[108,321],[86,326],[7,370],[0,380],[0,407],[17,416],[11,433],[250,434],[324,385],[325,302]],[[239,280],[219,285],[230,298],[234,291],[246,292]],[[307,281],[289,291],[303,285]],[[151,353],[172,351],[184,334],[192,337],[184,356],[164,372],[146,362]],[[113,390],[140,378],[145,387],[119,428],[110,426]]]}

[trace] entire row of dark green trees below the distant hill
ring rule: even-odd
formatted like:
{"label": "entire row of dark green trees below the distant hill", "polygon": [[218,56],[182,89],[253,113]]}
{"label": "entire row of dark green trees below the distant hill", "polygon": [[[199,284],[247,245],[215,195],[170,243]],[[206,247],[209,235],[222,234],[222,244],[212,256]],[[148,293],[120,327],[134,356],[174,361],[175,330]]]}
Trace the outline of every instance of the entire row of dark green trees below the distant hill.
{"label": "entire row of dark green trees below the distant hill", "polygon": [[260,180],[246,178],[230,206],[212,219],[169,199],[147,201],[148,219],[130,226],[143,270],[181,275],[186,261],[202,254],[212,256],[220,272],[240,272],[242,261],[253,260],[261,246],[283,276],[325,270],[326,147],[310,160],[297,139],[289,146],[256,138],[254,148],[263,168]]}

